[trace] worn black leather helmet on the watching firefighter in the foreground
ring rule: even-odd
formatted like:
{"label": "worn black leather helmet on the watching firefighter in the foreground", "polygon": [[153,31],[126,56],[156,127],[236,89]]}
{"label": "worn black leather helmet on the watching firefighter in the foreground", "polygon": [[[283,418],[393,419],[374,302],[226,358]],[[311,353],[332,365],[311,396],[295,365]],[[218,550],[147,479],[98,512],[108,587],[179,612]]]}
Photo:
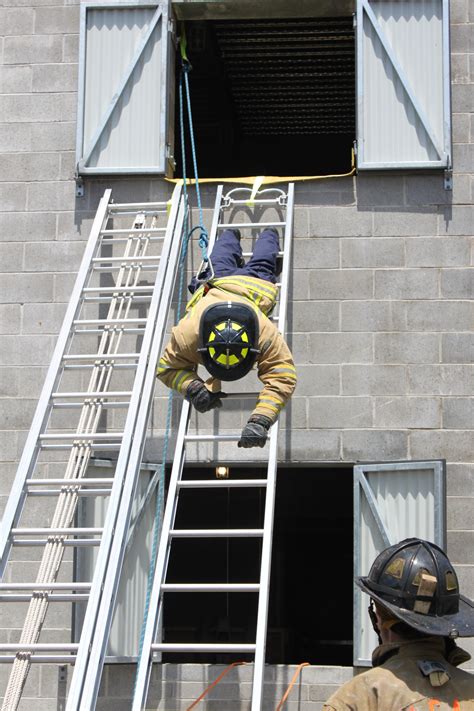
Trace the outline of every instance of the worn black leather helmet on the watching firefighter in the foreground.
{"label": "worn black leather helmet on the watching firefighter in the foreground", "polygon": [[474,603],[459,592],[439,546],[407,538],[386,548],[356,585],[394,617],[427,635],[474,637]]}

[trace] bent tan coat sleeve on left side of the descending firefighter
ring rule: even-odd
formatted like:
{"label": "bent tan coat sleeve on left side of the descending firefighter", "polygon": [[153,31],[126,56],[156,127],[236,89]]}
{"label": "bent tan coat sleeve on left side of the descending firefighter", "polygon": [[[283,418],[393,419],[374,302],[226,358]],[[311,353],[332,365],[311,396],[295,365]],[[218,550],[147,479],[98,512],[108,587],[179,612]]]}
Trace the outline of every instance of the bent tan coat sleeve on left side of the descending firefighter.
{"label": "bent tan coat sleeve on left side of the descending firefighter", "polygon": [[185,342],[178,324],[173,328],[171,338],[158,362],[157,378],[181,395],[186,395],[193,380],[201,380],[196,373],[199,362],[196,348],[197,343]]}

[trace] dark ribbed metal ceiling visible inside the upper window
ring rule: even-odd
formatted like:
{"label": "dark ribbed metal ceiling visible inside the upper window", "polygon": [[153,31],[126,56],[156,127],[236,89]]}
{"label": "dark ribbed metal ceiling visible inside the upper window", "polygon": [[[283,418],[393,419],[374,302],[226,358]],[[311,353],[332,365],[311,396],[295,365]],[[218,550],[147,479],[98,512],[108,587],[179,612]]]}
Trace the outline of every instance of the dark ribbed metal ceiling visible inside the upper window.
{"label": "dark ribbed metal ceiling visible inside the upper window", "polygon": [[352,17],[214,28],[244,135],[355,131]]}

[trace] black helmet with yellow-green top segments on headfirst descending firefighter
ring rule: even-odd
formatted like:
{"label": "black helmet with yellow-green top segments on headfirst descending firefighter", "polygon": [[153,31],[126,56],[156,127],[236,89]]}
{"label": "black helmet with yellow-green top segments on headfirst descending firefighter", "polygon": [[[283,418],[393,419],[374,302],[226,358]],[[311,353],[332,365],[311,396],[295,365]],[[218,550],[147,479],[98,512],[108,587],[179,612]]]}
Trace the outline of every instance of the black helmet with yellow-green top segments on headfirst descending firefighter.
{"label": "black helmet with yellow-green top segments on headfirst descending firefighter", "polygon": [[204,366],[219,380],[238,380],[247,375],[259,352],[258,317],[245,304],[225,301],[203,311],[199,324],[199,348]]}

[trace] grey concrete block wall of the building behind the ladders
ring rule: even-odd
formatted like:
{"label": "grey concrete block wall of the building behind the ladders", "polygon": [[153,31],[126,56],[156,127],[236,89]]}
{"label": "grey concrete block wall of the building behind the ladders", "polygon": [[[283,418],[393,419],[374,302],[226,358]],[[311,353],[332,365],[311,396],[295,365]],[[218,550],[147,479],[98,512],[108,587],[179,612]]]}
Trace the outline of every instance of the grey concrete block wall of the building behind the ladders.
{"label": "grey concrete block wall of the building behind the ladders", "polygon": [[[0,8],[2,508],[100,195],[109,186],[118,201],[170,193],[159,179],[89,180],[86,196],[75,198],[78,18],[77,0],[3,0]],[[297,185],[289,340],[299,385],[282,416],[280,449],[282,459],[308,463],[446,459],[448,553],[471,597],[473,22],[472,2],[453,0],[452,193],[433,174]],[[204,197],[209,210],[212,190]],[[225,417],[233,428],[233,414]],[[153,425],[150,459],[161,435]],[[205,449],[195,452],[196,459],[209,457]],[[32,564],[24,554],[15,562],[25,579]],[[17,637],[15,620],[2,616],[0,639]],[[50,639],[68,636],[66,612],[48,624]],[[474,652],[472,642],[465,646]],[[192,671],[190,678],[186,669],[179,673],[196,681]],[[104,709],[118,708],[111,694],[121,676],[108,671]],[[297,708],[316,711],[324,692],[312,684],[340,681],[334,669],[324,681],[308,682]],[[174,683],[165,678],[165,687]],[[235,699],[231,687],[229,681]],[[34,699],[40,711],[56,709],[61,688],[53,671],[34,670],[25,708]]]}

